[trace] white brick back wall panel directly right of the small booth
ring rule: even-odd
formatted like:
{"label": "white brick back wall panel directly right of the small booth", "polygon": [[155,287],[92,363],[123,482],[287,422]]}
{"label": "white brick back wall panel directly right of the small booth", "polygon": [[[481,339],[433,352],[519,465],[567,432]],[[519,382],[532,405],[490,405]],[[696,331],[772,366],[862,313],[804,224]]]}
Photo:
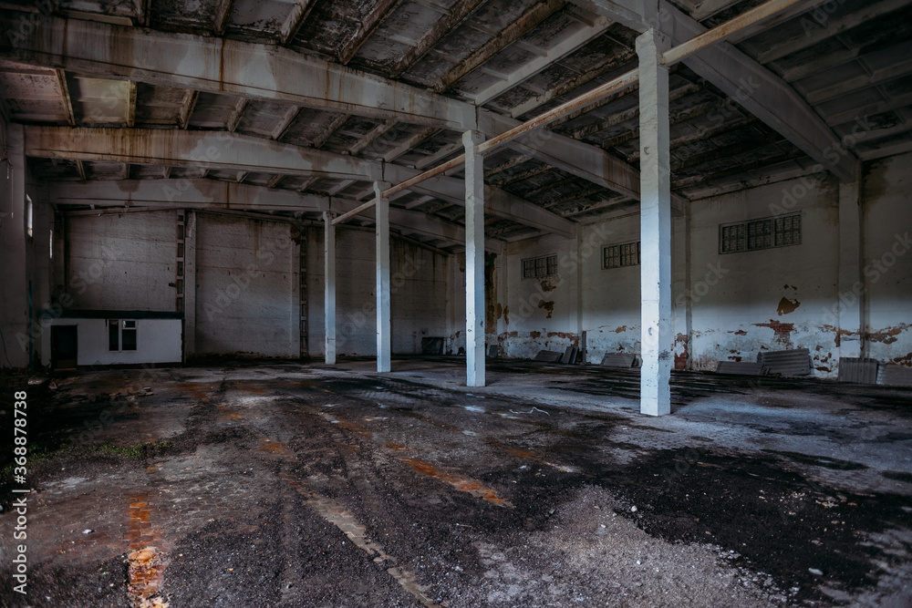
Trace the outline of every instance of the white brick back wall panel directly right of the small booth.
{"label": "white brick back wall panel directly right of the small booth", "polygon": [[197,356],[299,356],[292,225],[197,213]]}

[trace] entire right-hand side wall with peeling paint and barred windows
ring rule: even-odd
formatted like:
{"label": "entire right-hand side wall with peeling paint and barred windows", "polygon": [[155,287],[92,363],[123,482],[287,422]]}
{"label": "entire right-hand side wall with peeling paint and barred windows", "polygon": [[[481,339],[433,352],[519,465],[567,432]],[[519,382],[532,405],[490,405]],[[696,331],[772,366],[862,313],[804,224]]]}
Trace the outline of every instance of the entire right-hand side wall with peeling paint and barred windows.
{"label": "entire right-hand side wall with peeling paint and barred windows", "polygon": [[[861,192],[864,220],[865,356],[912,365],[912,154],[868,163]],[[720,253],[720,224],[800,213],[802,242]],[[582,264],[579,328],[587,360],[606,352],[639,353],[639,266],[602,268],[602,247],[639,240],[637,214],[582,227],[581,242],[554,236],[508,247],[498,335],[503,354],[533,357],[577,340],[576,263]],[[816,175],[693,201],[672,229],[675,366],[714,370],[719,361],[755,361],[762,350],[807,348],[814,376],[838,373],[839,191]],[[523,280],[522,260],[557,254],[556,280]],[[542,283],[553,290],[543,289]],[[501,304],[498,302],[497,304]],[[550,314],[550,316],[549,316]]]}

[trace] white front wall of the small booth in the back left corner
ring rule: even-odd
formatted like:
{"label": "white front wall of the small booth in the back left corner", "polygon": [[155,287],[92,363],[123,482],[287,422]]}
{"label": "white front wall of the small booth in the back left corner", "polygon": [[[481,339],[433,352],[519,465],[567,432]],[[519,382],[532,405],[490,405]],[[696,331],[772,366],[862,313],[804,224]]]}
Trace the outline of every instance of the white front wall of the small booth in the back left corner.
{"label": "white front wall of the small booth in the back left corner", "polygon": [[57,318],[42,335],[41,365],[50,365],[50,327],[77,325],[77,365],[115,366],[181,363],[181,319],[137,319],[136,350],[108,350],[108,320]]}

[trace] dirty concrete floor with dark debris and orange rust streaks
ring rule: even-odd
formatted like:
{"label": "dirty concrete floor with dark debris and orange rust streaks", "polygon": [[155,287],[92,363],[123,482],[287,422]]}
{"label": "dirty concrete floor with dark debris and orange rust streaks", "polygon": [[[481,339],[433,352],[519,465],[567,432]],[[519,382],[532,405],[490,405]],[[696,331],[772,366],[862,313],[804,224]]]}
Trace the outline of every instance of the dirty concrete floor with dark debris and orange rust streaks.
{"label": "dirty concrete floor with dark debris and orange rust streaks", "polygon": [[912,390],[679,374],[650,418],[635,372],[373,369],[29,386],[28,595],[0,603],[912,605]]}

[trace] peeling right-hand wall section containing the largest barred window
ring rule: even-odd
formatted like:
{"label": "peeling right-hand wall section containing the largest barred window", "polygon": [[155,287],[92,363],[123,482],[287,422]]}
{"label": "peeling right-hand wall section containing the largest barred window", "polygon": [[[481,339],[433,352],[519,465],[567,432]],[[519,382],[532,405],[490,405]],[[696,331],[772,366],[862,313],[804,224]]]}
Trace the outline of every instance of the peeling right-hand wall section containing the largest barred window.
{"label": "peeling right-hand wall section containing the largest barred window", "polygon": [[[801,214],[801,244],[719,252],[720,224],[783,213]],[[761,350],[807,348],[815,375],[834,376],[839,354],[822,311],[835,301],[839,280],[837,181],[786,180],[694,201],[691,219],[692,368],[755,361]]]}

